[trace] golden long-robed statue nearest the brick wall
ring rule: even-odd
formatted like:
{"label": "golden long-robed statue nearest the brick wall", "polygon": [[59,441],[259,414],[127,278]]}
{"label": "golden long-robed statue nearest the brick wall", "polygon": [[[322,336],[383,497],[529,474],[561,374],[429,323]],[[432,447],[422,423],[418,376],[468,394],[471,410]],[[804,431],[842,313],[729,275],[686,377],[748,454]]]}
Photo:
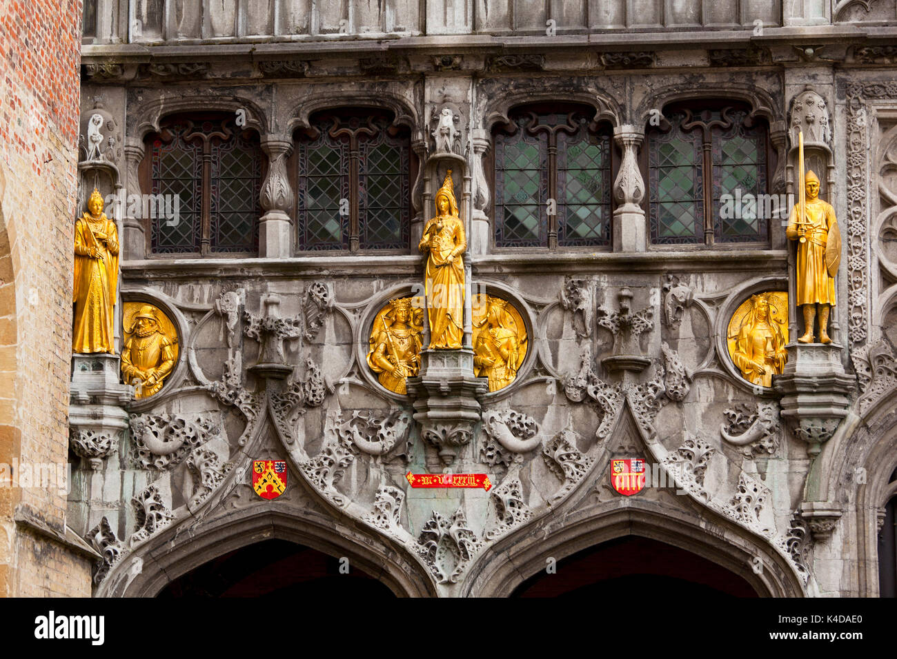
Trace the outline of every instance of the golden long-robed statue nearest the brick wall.
{"label": "golden long-robed statue nearest the brick wall", "polygon": [[118,229],[93,189],[90,212],[74,222],[73,352],[115,354],[112,316],[118,287]]}

